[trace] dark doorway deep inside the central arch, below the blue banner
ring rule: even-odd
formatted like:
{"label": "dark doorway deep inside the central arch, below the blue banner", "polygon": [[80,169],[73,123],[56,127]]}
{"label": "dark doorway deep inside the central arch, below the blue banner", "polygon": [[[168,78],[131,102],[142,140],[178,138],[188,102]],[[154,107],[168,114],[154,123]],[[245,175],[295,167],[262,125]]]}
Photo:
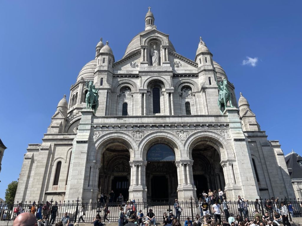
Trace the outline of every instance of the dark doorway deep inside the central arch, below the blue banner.
{"label": "dark doorway deep inside the central arch, below the blue banner", "polygon": [[168,179],[165,176],[153,176],[151,179],[151,201],[166,202],[169,200]]}

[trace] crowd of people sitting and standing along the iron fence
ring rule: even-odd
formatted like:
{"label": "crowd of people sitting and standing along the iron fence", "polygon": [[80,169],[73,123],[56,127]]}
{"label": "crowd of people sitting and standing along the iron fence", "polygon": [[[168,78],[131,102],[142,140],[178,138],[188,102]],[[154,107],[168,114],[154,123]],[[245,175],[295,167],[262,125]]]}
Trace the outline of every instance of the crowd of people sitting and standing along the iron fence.
{"label": "crowd of people sitting and standing along the iron fence", "polygon": [[[109,197],[109,202],[115,201],[113,191],[111,191]],[[122,194],[117,197],[116,201],[120,203],[118,204],[118,226],[155,226],[156,220],[161,218],[160,216],[156,216],[151,208],[145,216],[141,209],[137,211],[137,203],[134,199],[124,203]],[[284,205],[283,202],[279,202],[278,198],[274,199],[272,197],[261,203],[258,199],[256,199],[255,202],[249,202],[249,200],[238,196],[237,201],[234,202],[232,206],[233,211],[237,212],[238,210],[235,217],[234,213],[230,213],[229,205],[231,202],[226,201],[224,192],[220,189],[218,192],[215,190],[213,192],[209,190],[208,193],[203,192],[199,195],[196,204],[199,209],[199,214],[196,215],[195,219],[192,219],[193,222],[189,217],[186,218],[184,226],[280,226],[281,222],[284,226],[289,226],[291,224],[288,220],[288,215],[290,213],[291,216],[293,216],[293,211],[295,210],[291,203]],[[249,207],[251,204],[253,204],[253,206]],[[92,221],[94,226],[102,226],[106,220],[110,223],[110,220],[107,218],[110,213],[108,205],[110,204],[107,204],[106,193],[101,193],[98,205],[99,211]],[[234,209],[234,206],[236,206],[236,209]],[[100,215],[102,211],[103,216]],[[162,224],[164,226],[181,226],[180,215],[182,211],[183,207],[178,202],[178,199],[175,199],[173,209],[163,213]],[[260,213],[263,213],[263,211],[265,211],[265,214],[261,215]],[[44,205],[38,204],[36,208],[36,203],[34,202],[30,208],[30,212],[26,213],[24,213],[22,203],[20,203],[14,212],[17,216],[14,220],[14,225],[18,225],[15,224],[15,222],[22,221],[24,218],[31,218],[36,221],[34,225],[47,226],[48,224],[54,224],[58,215],[58,203],[55,202],[54,205],[51,205],[50,202],[46,202]],[[78,223],[80,221],[85,222],[84,204],[81,205],[80,210],[76,210],[76,216],[78,216]],[[78,223],[75,223],[74,226],[78,225]],[[71,224],[67,212],[61,221],[56,224],[56,226],[70,225],[73,224]]]}

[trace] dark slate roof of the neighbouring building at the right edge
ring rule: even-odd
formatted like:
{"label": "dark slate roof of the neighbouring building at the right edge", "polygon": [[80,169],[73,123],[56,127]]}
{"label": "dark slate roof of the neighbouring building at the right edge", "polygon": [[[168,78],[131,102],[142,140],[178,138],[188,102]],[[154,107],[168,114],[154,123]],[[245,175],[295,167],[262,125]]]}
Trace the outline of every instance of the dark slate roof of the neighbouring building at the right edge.
{"label": "dark slate roof of the neighbouring building at the right edge", "polygon": [[284,156],[291,179],[302,178],[302,157],[292,151]]}

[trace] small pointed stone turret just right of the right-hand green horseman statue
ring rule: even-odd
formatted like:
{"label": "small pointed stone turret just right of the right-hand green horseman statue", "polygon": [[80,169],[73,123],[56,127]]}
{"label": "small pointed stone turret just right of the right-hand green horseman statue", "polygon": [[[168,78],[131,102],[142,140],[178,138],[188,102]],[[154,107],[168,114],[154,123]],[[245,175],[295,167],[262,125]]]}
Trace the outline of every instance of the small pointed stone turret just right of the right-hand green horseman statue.
{"label": "small pointed stone turret just right of the right-hand green horseman statue", "polygon": [[240,92],[238,100],[239,116],[244,131],[260,131],[260,126],[256,120],[256,115],[249,107],[249,102]]}

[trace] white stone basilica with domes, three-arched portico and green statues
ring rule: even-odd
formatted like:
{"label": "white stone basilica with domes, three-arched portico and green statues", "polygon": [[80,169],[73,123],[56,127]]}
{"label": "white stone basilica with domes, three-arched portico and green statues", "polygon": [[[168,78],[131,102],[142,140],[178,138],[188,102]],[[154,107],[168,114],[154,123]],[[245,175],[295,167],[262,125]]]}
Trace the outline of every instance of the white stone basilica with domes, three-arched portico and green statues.
{"label": "white stone basilica with domes, three-arched portico and green statues", "polygon": [[122,59],[97,43],[42,143],[28,145],[15,201],[95,202],[111,190],[139,202],[208,189],[227,200],[294,198],[279,142],[241,93],[237,102],[232,75],[201,37],[188,59],[154,21],[149,8]]}

